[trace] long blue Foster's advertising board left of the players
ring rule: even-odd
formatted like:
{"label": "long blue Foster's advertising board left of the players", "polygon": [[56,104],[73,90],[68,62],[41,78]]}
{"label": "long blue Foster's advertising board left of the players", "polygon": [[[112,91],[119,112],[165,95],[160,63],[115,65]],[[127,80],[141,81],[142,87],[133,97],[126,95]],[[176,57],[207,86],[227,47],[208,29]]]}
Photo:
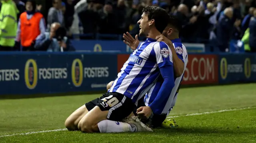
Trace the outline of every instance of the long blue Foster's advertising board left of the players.
{"label": "long blue Foster's advertising board left of the players", "polygon": [[0,94],[106,90],[117,75],[116,59],[116,54],[1,54]]}

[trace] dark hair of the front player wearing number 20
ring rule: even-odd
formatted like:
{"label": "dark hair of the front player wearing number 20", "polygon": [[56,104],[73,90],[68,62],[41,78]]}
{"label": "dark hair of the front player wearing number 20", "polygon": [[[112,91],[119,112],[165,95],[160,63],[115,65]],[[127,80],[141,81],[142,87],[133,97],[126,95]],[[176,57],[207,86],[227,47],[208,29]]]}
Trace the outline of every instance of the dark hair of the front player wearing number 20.
{"label": "dark hair of the front player wearing number 20", "polygon": [[142,13],[148,16],[148,20],[155,20],[155,27],[160,33],[164,31],[170,19],[166,10],[156,6],[146,6]]}

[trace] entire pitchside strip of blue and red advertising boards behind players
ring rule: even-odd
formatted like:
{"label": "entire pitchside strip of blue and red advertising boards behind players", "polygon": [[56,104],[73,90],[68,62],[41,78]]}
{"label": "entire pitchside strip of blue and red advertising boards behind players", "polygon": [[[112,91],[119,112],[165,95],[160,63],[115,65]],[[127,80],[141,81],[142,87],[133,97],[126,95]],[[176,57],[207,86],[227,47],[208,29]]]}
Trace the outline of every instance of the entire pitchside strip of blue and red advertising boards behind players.
{"label": "entire pitchside strip of blue and red advertising boards behind players", "polygon": [[[108,82],[116,78],[128,59],[129,54],[124,55],[96,52],[1,52],[0,94],[106,90]],[[256,82],[256,55],[190,54],[185,75],[204,79],[187,84]]]}

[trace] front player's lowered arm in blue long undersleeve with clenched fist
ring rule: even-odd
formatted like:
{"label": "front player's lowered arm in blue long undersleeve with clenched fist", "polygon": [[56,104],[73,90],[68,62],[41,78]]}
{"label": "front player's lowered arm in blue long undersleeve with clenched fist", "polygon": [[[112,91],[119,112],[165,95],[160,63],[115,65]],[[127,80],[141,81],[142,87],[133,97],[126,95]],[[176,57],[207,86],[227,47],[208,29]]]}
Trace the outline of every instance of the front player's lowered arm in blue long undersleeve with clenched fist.
{"label": "front player's lowered arm in blue long undersleeve with clenched fist", "polygon": [[166,43],[160,42],[159,45],[154,46],[154,51],[164,82],[154,101],[148,107],[138,108],[137,114],[142,118],[149,118],[152,112],[153,114],[162,114],[170,97],[171,90],[174,87],[174,69],[172,57],[170,56],[171,51]]}

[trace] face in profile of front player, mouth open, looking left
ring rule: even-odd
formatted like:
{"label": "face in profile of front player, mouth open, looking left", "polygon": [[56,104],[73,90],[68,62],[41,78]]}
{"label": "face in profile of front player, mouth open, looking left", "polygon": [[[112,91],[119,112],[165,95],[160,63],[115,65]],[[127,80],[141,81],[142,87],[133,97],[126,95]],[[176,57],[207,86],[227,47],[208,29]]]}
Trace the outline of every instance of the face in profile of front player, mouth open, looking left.
{"label": "face in profile of front player, mouth open, looking left", "polygon": [[140,25],[140,33],[141,35],[148,35],[148,29],[149,29],[149,21],[148,16],[146,16],[144,13],[141,15],[140,20],[138,21],[138,24]]}

